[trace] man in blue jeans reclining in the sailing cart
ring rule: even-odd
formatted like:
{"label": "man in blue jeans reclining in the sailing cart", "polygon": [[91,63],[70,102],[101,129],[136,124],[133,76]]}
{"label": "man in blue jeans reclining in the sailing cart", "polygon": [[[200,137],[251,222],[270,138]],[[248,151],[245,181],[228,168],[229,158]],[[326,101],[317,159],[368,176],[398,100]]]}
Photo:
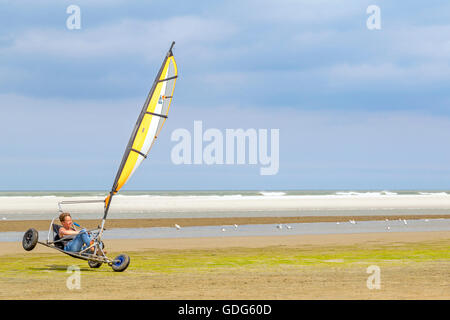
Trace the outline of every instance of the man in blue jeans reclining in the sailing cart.
{"label": "man in blue jeans reclining in the sailing cart", "polygon": [[[70,252],[80,252],[85,248],[88,248],[94,244],[94,240],[91,239],[86,229],[81,229],[81,231],[75,230],[72,222],[72,217],[70,213],[63,212],[59,215],[59,221],[61,221],[62,227],[58,230],[59,238],[65,236],[75,236],[72,240],[64,244],[64,251]],[[92,247],[91,252],[94,252],[94,247]]]}

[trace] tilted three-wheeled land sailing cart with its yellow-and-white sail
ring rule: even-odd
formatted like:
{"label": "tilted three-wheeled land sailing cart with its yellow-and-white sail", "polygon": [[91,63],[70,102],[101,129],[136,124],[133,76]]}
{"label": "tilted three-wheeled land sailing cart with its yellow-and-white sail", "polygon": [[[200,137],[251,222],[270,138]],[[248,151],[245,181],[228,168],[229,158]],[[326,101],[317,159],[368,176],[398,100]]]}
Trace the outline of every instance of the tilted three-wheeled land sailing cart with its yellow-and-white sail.
{"label": "tilted three-wheeled land sailing cart with its yellow-and-white sail", "polygon": [[[120,254],[114,259],[106,256],[104,250],[105,245],[102,241],[103,231],[105,230],[105,222],[113,196],[119,192],[142,161],[147,158],[150,149],[167,119],[175,89],[175,82],[178,77],[177,65],[172,53],[174,45],[175,42],[172,42],[145,100],[109,195],[104,200],[61,201],[58,203],[59,211],[62,212],[61,205],[104,202],[104,214],[101,225],[95,229],[86,230],[93,243],[89,247],[82,248],[80,252],[65,251],[64,243],[72,240],[74,236],[60,238],[59,228],[61,226],[55,223],[56,218],[54,218],[50,223],[45,242],[39,241],[39,233],[36,229],[30,228],[25,232],[22,239],[22,246],[25,250],[33,250],[37,244],[41,244],[73,258],[87,260],[91,268],[99,268],[104,263],[111,266],[114,271],[124,271],[128,267],[130,264],[130,257],[128,255]],[[74,224],[77,225],[76,223]],[[77,226],[80,227],[79,225]]]}

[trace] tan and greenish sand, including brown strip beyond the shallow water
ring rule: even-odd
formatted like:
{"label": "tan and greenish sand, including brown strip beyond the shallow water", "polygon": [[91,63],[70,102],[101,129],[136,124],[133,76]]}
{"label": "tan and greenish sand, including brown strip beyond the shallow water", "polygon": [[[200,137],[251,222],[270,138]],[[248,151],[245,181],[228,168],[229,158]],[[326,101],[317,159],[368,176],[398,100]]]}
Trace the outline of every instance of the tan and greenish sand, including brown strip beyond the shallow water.
{"label": "tan and greenish sand, including brown strip beyond the shallow water", "polygon": [[[442,218],[450,215],[108,219],[106,228]],[[75,221],[86,228],[100,223]],[[45,231],[49,223],[1,220],[0,231]],[[123,273],[90,269],[42,245],[27,252],[20,241],[0,242],[0,300],[60,299],[61,292],[64,299],[449,299],[449,241],[450,231],[105,240],[112,257],[130,255]],[[384,250],[393,253],[380,259]],[[286,262],[296,255],[305,257]],[[66,286],[73,264],[81,268],[82,290]],[[373,264],[381,266],[381,290],[366,285]]]}

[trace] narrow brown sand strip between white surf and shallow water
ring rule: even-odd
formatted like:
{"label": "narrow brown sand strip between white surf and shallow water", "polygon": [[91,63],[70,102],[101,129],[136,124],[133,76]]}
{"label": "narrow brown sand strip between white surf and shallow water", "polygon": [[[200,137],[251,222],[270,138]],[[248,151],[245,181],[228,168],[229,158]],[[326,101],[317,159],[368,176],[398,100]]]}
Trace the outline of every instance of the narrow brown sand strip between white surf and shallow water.
{"label": "narrow brown sand strip between white surf and shallow water", "polygon": [[[96,228],[101,220],[74,220],[81,226]],[[278,224],[278,223],[311,223],[311,222],[338,222],[338,221],[380,221],[398,219],[449,219],[450,215],[386,215],[386,216],[305,216],[305,217],[228,217],[228,218],[163,218],[163,219],[108,219],[106,229],[115,228],[152,228],[173,227],[175,224],[181,227],[192,226],[222,226],[245,224]],[[56,221],[59,222],[59,221]],[[23,231],[35,228],[38,231],[49,229],[50,220],[2,220],[0,232]]]}

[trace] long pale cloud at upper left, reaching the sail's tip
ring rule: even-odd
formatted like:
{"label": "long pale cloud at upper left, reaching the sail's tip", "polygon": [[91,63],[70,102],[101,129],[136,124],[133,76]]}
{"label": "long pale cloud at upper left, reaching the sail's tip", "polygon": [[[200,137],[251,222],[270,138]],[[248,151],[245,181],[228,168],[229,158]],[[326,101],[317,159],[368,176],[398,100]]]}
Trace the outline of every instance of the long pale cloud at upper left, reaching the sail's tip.
{"label": "long pale cloud at upper left, reaching the sail's tip", "polygon": [[180,46],[195,48],[229,38],[235,31],[233,26],[223,21],[191,16],[149,21],[124,19],[119,23],[79,31],[26,30],[0,53],[83,59],[135,56],[154,61],[161,59],[161,52],[168,49],[172,40]]}

